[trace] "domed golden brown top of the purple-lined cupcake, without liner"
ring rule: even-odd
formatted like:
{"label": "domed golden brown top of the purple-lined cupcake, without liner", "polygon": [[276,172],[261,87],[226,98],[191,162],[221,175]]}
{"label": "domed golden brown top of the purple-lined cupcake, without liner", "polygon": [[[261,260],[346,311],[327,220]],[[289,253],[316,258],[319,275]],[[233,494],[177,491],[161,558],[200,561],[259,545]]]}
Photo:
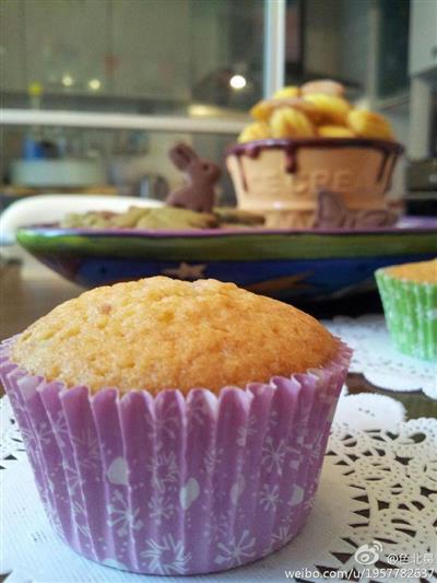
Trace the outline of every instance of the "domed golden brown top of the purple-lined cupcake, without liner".
{"label": "domed golden brown top of the purple-lined cupcake, without liner", "polygon": [[12,347],[32,374],[87,385],[218,390],[323,365],[338,341],[311,316],[233,283],[164,277],[96,288],[35,322]]}

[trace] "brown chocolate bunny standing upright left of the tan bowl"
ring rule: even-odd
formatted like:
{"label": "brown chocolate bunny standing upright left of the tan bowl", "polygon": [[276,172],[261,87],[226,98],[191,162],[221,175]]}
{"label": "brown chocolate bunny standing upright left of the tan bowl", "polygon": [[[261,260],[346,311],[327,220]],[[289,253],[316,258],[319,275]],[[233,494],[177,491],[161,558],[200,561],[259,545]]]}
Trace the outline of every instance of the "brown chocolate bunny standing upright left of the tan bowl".
{"label": "brown chocolate bunny standing upright left of the tan bowl", "polygon": [[211,212],[214,207],[214,186],[221,171],[216,164],[201,160],[186,143],[178,143],[169,152],[172,162],[186,175],[186,184],[167,197],[167,205],[198,212]]}

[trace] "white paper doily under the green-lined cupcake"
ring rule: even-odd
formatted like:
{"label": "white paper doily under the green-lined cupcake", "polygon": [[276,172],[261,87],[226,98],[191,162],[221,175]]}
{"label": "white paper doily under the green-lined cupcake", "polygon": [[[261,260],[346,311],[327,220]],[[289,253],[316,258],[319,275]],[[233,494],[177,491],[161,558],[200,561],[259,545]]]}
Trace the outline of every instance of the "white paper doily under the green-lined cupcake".
{"label": "white paper doily under the green-lined cupcake", "polygon": [[354,351],[351,373],[389,390],[423,390],[437,399],[437,363],[401,354],[393,347],[383,316],[335,317],[323,323]]}

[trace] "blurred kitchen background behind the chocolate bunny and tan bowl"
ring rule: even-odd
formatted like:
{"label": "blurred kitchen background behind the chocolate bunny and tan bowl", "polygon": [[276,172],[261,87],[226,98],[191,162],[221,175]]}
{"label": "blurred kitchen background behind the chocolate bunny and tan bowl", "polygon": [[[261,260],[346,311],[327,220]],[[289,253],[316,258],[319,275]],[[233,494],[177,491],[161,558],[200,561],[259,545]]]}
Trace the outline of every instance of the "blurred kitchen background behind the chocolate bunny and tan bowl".
{"label": "blurred kitchen background behind the chocolate bunny and tan bowl", "polygon": [[[285,36],[285,42],[284,42]],[[248,108],[331,78],[391,120],[392,197],[436,214],[436,0],[1,0],[0,200],[164,198],[177,140],[224,167]],[[234,194],[223,173],[222,203]]]}

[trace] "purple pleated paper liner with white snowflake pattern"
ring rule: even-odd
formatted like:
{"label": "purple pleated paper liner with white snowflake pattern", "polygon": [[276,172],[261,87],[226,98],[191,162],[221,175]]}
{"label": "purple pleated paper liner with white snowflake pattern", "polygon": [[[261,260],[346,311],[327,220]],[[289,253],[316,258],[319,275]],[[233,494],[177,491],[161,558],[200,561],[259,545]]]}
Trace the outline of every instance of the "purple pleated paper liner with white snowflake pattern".
{"label": "purple pleated paper liner with white snowflake pattern", "polygon": [[91,395],[28,375],[0,345],[4,385],[51,525],[94,561],[199,574],[288,543],[311,509],[351,350],[322,369],[217,395]]}

